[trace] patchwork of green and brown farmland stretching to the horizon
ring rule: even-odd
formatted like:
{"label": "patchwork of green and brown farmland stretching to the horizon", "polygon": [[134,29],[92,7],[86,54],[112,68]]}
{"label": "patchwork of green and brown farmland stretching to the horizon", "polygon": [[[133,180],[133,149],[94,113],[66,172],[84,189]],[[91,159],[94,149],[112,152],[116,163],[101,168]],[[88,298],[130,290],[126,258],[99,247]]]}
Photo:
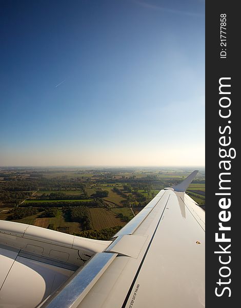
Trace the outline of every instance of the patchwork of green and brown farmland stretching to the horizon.
{"label": "patchwork of green and brown farmland stretching to the horizon", "polygon": [[[124,226],[160,189],[179,183],[191,171],[189,168],[0,168],[0,219],[70,234],[90,235],[87,230],[92,228],[99,232],[91,236],[103,238],[112,229],[114,232]],[[187,193],[200,205],[205,204],[204,170],[190,184]],[[81,206],[88,208],[90,221],[87,216],[71,220],[68,214],[71,208]],[[36,208],[35,212],[32,208]]]}

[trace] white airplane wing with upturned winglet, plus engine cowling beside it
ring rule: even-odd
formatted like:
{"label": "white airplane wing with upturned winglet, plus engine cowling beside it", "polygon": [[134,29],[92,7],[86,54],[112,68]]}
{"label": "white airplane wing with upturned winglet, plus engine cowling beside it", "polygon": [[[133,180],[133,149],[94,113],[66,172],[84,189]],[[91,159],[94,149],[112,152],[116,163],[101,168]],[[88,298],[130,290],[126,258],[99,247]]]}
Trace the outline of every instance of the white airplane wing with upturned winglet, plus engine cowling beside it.
{"label": "white airplane wing with upturned winglet, plus engine cowling beside it", "polygon": [[205,212],[185,193],[196,173],[110,241],[1,221],[0,307],[204,307]]}

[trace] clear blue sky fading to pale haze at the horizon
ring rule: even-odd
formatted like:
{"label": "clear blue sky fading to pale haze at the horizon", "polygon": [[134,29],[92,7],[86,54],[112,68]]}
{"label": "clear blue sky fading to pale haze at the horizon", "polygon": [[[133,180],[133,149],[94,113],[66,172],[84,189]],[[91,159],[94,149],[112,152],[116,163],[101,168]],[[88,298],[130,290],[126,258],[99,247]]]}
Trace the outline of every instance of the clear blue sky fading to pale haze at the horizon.
{"label": "clear blue sky fading to pale haze at the horizon", "polygon": [[204,166],[203,0],[0,4],[0,166]]}

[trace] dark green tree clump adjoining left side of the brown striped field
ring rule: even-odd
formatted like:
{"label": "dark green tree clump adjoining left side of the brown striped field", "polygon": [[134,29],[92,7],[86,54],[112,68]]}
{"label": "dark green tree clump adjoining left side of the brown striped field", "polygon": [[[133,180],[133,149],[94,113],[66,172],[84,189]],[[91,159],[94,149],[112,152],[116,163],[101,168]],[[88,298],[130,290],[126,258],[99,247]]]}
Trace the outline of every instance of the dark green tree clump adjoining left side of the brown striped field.
{"label": "dark green tree clump adjoining left side of the brown striped field", "polygon": [[87,206],[63,207],[63,211],[71,221],[79,222],[83,230],[92,228],[90,211]]}

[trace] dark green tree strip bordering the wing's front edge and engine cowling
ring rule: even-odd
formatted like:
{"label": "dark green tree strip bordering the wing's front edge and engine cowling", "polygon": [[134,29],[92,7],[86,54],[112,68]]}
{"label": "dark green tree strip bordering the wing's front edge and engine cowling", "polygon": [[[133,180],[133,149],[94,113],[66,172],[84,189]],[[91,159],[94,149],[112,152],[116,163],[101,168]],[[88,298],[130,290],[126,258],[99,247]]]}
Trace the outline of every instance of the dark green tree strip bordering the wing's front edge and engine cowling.
{"label": "dark green tree strip bordering the wing's front edge and engine cowling", "polygon": [[84,230],[74,235],[86,237],[94,240],[108,241],[111,239],[123,226],[116,226],[101,230]]}

